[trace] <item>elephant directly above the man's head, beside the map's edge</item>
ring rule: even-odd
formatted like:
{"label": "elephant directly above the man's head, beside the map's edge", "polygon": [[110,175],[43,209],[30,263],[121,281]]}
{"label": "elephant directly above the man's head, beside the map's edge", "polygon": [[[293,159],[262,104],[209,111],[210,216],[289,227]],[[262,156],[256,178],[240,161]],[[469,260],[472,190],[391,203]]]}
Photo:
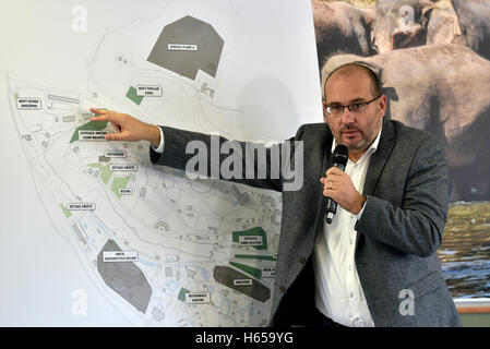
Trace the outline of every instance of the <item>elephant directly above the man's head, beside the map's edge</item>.
{"label": "elephant directly above the man's head, beside the map's edge", "polygon": [[312,0],[319,68],[334,55],[375,55],[371,32],[375,9],[359,9],[342,1]]}

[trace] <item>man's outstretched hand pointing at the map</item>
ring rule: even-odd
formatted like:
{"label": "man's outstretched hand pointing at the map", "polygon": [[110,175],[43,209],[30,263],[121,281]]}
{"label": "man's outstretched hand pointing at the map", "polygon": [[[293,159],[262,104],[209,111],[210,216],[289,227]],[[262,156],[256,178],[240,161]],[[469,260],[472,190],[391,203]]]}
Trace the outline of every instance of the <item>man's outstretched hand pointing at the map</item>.
{"label": "man's outstretched hand pointing at the map", "polygon": [[145,123],[127,113],[120,113],[106,109],[91,108],[98,115],[92,121],[109,121],[116,133],[106,134],[107,141],[150,141],[154,146],[160,144],[160,131],[157,125]]}

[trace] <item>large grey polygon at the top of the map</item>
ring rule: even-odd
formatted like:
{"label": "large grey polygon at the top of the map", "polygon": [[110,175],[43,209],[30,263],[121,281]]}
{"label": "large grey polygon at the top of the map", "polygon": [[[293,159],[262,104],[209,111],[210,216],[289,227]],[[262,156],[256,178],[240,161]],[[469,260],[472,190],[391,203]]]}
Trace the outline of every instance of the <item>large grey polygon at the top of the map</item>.
{"label": "large grey polygon at the top of the map", "polygon": [[[213,26],[188,15],[162,29],[147,60],[191,80],[195,80],[199,70],[216,77],[224,44]],[[169,45],[190,45],[196,49],[172,50]]]}

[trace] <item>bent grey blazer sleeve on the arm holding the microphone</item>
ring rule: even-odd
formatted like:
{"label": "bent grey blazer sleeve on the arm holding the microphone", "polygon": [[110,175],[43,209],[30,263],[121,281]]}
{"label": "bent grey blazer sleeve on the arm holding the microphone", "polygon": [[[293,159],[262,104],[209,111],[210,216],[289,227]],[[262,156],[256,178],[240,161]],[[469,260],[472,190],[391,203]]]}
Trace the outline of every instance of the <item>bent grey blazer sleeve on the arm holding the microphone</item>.
{"label": "bent grey blazer sleeve on the arm holding the microphone", "polygon": [[435,139],[429,137],[413,159],[402,206],[368,196],[355,229],[405,253],[428,257],[441,244],[449,197],[445,153]]}

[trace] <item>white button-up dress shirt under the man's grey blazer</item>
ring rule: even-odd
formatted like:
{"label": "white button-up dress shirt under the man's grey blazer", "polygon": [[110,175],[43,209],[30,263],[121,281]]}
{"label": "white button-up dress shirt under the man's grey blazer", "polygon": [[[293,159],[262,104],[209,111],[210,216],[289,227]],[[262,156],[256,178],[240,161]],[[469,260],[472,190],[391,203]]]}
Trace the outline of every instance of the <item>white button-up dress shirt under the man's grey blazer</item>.
{"label": "white button-up dress shirt under the man's grey blazer", "polygon": [[[381,130],[356,164],[350,159],[347,161],[345,171],[359,193],[362,193],[369,160],[378,148]],[[332,152],[336,145],[334,139]],[[332,224],[324,221],[314,245],[316,308],[334,322],[349,327],[374,326],[355,263],[357,231],[354,226],[362,212],[363,207],[356,216],[338,205]]]}

